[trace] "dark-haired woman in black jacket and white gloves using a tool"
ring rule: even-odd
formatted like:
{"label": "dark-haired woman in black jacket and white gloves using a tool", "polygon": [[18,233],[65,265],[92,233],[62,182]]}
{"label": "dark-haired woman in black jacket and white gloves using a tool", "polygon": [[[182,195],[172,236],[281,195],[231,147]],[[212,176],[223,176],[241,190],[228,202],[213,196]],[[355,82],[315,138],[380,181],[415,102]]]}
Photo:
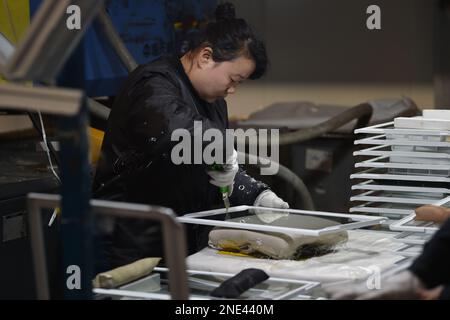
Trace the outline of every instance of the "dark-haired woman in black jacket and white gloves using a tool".
{"label": "dark-haired woman in black jacket and white gloves using a tool", "polygon": [[[288,208],[267,185],[239,168],[234,148],[225,150],[220,171],[204,163],[177,165],[171,159],[174,130],[183,128],[194,135],[194,121],[201,121],[203,131],[225,132],[224,98],[244,80],[260,78],[266,66],[264,44],[226,3],[217,7],[216,20],[203,27],[181,58],[163,57],[137,67],[108,119],[94,179],[95,197],[161,205],[182,215],[223,207],[218,187],[228,186],[232,206]],[[159,226],[116,219],[110,229],[102,241],[101,269],[162,256]],[[190,253],[206,244],[195,228],[188,231],[188,238]]]}

